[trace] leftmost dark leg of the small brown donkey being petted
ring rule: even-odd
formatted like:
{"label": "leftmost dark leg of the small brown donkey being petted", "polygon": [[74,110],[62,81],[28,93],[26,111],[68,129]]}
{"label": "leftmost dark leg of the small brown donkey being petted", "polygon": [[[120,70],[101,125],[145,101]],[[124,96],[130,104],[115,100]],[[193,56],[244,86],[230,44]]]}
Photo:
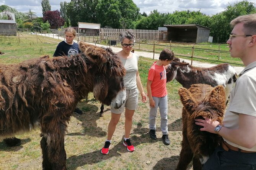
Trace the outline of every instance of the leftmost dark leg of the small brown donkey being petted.
{"label": "leftmost dark leg of the small brown donkey being petted", "polygon": [[176,170],[186,170],[193,158],[193,152],[189,146],[188,139],[183,136],[182,149],[179,155],[179,163]]}

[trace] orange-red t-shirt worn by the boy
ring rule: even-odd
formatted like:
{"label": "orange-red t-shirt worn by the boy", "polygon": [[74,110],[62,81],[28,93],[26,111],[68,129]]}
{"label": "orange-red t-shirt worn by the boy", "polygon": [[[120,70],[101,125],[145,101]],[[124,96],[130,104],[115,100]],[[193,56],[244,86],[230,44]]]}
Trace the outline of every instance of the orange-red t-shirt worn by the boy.
{"label": "orange-red t-shirt worn by the boy", "polygon": [[148,71],[148,80],[152,81],[152,96],[163,97],[167,95],[166,71],[164,66],[158,66],[156,63],[157,61],[153,63]]}

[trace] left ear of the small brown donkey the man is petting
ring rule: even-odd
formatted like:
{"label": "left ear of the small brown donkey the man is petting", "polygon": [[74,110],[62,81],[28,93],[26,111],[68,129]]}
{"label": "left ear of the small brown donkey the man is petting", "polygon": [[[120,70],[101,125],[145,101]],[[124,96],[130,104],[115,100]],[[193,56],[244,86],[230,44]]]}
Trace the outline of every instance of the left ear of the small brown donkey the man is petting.
{"label": "left ear of the small brown donkey the man is petting", "polygon": [[183,104],[184,108],[190,113],[194,112],[198,106],[198,103],[192,97],[188,89],[181,87],[179,88],[178,92],[181,98],[181,103]]}

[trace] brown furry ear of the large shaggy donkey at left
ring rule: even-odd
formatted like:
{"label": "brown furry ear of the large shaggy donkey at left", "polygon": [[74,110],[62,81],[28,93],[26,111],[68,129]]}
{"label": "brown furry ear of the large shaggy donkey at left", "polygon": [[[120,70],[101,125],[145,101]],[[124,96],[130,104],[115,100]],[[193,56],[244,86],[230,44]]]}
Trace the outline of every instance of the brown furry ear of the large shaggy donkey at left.
{"label": "brown furry ear of the large shaggy donkey at left", "polygon": [[108,56],[108,52],[104,48],[97,47],[96,45],[91,45],[83,41],[79,42],[79,48],[92,60],[99,60],[100,63],[106,63],[107,59],[105,56]]}

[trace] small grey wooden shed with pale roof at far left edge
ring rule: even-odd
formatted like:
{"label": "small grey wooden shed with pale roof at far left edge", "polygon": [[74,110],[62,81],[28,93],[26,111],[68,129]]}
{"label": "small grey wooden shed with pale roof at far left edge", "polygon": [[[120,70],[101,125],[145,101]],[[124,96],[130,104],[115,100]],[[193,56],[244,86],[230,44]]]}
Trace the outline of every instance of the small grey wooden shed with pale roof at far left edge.
{"label": "small grey wooden shed with pale roof at far left edge", "polygon": [[16,22],[14,20],[0,19],[0,35],[16,36]]}

